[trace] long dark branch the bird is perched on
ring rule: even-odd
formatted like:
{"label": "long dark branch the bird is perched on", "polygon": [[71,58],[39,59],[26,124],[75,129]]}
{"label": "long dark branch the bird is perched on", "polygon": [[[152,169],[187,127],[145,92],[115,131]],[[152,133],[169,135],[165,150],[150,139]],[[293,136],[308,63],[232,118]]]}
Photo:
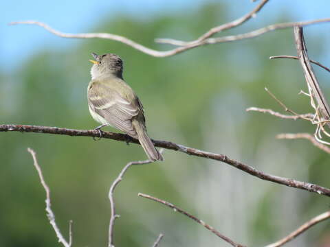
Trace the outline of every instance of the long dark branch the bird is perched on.
{"label": "long dark branch the bird is perched on", "polygon": [[[37,133],[47,133],[47,134],[63,134],[69,136],[76,137],[99,137],[97,130],[72,130],[66,128],[57,128],[57,127],[46,127],[46,126],[25,126],[25,125],[12,125],[12,124],[3,124],[0,125],[1,131],[18,131],[18,132],[37,132]],[[102,138],[104,139],[113,139],[117,141],[128,141],[130,140],[132,143],[138,143],[136,139],[129,139],[126,134],[119,134],[113,132],[102,132]],[[286,185],[289,187],[294,187],[297,189],[303,189],[306,191],[310,191],[313,193],[318,193],[324,196],[330,196],[330,189],[325,187],[321,187],[320,185],[315,185],[312,183],[306,183],[298,180],[294,180],[292,178],[283,178],[280,176],[274,176],[271,174],[267,174],[265,172],[261,172],[250,165],[245,165],[239,161],[235,161],[225,154],[215,154],[212,152],[206,152],[203,150],[198,150],[196,148],[189,148],[184,145],[179,145],[177,143],[173,143],[171,141],[156,141],[153,140],[153,143],[156,147],[166,148],[168,150],[175,150],[177,152],[183,152],[185,154],[189,154],[192,156],[198,156],[202,158],[210,158],[215,161],[221,161],[236,169],[240,169],[243,172],[246,172],[252,176],[256,176],[262,180],[271,181],[274,183],[278,183],[281,185]]]}

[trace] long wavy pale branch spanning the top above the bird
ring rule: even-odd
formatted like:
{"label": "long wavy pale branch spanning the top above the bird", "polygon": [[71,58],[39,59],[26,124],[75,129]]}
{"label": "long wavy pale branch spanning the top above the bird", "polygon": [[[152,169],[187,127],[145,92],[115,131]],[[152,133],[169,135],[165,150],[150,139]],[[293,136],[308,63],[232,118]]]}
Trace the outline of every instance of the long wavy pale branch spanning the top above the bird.
{"label": "long wavy pale branch spanning the top above the bird", "polygon": [[[313,21],[279,23],[279,24],[269,25],[267,27],[263,27],[259,30],[254,30],[252,32],[248,32],[245,34],[238,34],[238,35],[234,35],[234,36],[223,36],[223,37],[219,37],[219,38],[206,38],[205,40],[201,40],[201,41],[198,41],[195,43],[188,43],[186,45],[183,45],[183,46],[180,46],[175,49],[168,50],[168,51],[157,51],[155,49],[150,49],[148,47],[145,47],[144,45],[140,45],[139,43],[136,43],[133,40],[130,40],[129,38],[126,38],[126,37],[120,36],[120,35],[116,35],[116,34],[108,34],[108,33],[69,34],[69,33],[64,33],[64,32],[60,32],[58,30],[54,30],[49,25],[42,23],[40,21],[14,21],[12,23],[9,23],[9,25],[17,25],[17,24],[39,25],[40,27],[43,27],[48,32],[51,32],[52,34],[55,34],[56,36],[60,36],[62,38],[104,38],[104,39],[109,39],[109,40],[115,40],[120,43],[124,43],[125,45],[129,45],[130,47],[133,47],[134,49],[137,49],[138,51],[142,51],[144,54],[148,54],[150,56],[155,56],[158,58],[164,58],[164,57],[179,54],[183,51],[187,51],[189,49],[199,47],[202,45],[225,43],[225,42],[230,42],[230,41],[235,41],[235,40],[242,40],[245,38],[254,38],[256,36],[265,34],[266,32],[270,32],[270,31],[274,31],[274,30],[278,30],[278,29],[285,29],[288,27],[294,27],[296,25],[305,26],[305,25],[311,25],[311,24],[329,22],[329,21],[330,21],[330,18],[318,19],[318,20],[313,20]],[[225,24],[225,25],[227,25],[227,24]],[[228,28],[230,28],[230,27],[228,27]],[[168,42],[164,39],[157,39],[158,42],[159,42],[159,40],[162,41],[162,43],[172,43],[172,44],[174,44],[174,41],[175,41],[175,40],[171,40],[170,42]],[[182,41],[179,41],[179,42],[182,42]]]}

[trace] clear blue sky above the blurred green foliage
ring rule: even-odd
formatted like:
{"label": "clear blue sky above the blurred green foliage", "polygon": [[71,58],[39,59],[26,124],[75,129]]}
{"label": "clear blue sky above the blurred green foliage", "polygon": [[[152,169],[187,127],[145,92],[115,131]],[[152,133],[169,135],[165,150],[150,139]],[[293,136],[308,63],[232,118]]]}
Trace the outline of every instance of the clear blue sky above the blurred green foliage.
{"label": "clear blue sky above the blurred green foliage", "polygon": [[[230,16],[235,19],[254,8],[261,0],[256,3],[252,3],[250,0],[213,1],[231,3]],[[63,32],[88,32],[91,27],[110,14],[115,16],[118,12],[123,12],[138,18],[152,19],[153,16],[159,13],[194,10],[205,2],[206,0],[3,1],[0,4],[1,9],[5,10],[1,12],[4,15],[0,19],[0,52],[2,55],[0,65],[4,71],[12,71],[21,64],[22,60],[39,49],[43,49],[43,47],[49,47],[50,45],[54,48],[68,47],[81,41],[58,38],[45,32],[41,27],[30,25],[8,26],[7,23],[11,21],[36,20],[48,23]],[[261,25],[264,23],[270,24],[272,19],[283,12],[292,13],[294,18],[292,21],[330,17],[330,1],[270,0],[270,3],[267,3],[265,8],[258,14],[256,20]],[[220,23],[214,23],[214,25],[217,24]],[[111,32],[111,30],[99,31]],[[330,23],[309,27],[307,31],[324,33],[328,42],[330,40]],[[20,59],[17,59],[18,57]]]}

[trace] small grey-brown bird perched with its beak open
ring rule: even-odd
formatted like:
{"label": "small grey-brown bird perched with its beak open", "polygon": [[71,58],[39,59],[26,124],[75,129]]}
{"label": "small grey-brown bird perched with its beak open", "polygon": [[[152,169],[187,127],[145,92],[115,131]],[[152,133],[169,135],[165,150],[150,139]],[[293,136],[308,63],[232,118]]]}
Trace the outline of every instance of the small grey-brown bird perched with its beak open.
{"label": "small grey-brown bird perched with its beak open", "polygon": [[91,54],[91,81],[87,87],[91,117],[101,126],[95,129],[102,137],[101,128],[112,126],[138,139],[150,161],[163,161],[146,133],[144,107],[131,86],[122,77],[122,58],[116,54]]}

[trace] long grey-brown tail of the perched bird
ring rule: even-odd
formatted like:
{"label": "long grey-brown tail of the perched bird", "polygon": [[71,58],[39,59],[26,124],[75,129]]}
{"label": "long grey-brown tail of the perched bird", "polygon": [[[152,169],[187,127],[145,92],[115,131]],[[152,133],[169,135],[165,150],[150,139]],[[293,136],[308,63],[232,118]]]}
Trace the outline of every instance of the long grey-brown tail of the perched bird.
{"label": "long grey-brown tail of the perched bird", "polygon": [[163,161],[164,158],[162,154],[158,152],[158,150],[155,148],[155,145],[153,145],[153,142],[148,137],[148,134],[146,134],[146,129],[144,126],[142,126],[142,123],[135,121],[135,124],[138,124],[139,127],[135,128],[137,132],[137,136],[139,138],[139,141],[142,145],[142,148],[144,149],[144,152],[146,152],[146,155],[151,161]]}

